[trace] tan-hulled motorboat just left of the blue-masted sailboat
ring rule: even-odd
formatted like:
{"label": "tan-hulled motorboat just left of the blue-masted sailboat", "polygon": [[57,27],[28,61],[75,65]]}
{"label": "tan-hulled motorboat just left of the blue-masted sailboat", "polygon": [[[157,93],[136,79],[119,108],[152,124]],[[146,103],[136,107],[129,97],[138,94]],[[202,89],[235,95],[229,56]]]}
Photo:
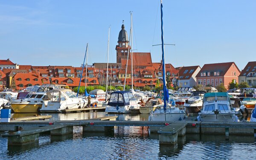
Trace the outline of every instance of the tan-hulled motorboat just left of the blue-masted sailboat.
{"label": "tan-hulled motorboat just left of the blue-masted sailboat", "polygon": [[150,111],[154,111],[157,105],[161,105],[163,102],[159,98],[149,98],[144,105],[140,106],[140,113],[149,114]]}

